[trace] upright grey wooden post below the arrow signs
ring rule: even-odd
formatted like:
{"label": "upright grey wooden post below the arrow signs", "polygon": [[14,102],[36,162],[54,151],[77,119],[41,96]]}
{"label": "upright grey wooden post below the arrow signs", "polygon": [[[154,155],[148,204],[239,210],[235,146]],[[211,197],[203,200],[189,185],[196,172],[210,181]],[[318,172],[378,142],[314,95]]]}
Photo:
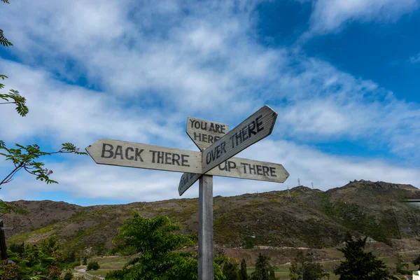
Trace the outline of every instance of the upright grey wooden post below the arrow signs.
{"label": "upright grey wooden post below the arrow signs", "polygon": [[214,280],[213,176],[200,177],[198,222],[198,280]]}

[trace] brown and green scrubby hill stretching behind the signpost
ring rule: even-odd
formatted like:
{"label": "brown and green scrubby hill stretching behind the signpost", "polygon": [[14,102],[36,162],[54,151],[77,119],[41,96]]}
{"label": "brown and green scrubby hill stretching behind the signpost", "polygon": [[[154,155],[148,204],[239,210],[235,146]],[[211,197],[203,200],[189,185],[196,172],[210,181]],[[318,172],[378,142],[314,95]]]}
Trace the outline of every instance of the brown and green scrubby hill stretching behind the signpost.
{"label": "brown and green scrubby hill stretching behind the signpost", "polygon": [[[411,185],[353,181],[327,191],[298,186],[290,190],[214,197],[214,239],[229,248],[328,248],[343,241],[346,231],[367,235],[397,248],[403,238],[420,232],[420,210],[403,199],[420,197]],[[198,199],[135,202],[80,207],[66,202],[17,201],[27,215],[3,216],[8,244],[37,242],[56,234],[63,248],[104,255],[132,211],[165,215],[192,234],[198,230]],[[264,247],[265,246],[265,247]]]}

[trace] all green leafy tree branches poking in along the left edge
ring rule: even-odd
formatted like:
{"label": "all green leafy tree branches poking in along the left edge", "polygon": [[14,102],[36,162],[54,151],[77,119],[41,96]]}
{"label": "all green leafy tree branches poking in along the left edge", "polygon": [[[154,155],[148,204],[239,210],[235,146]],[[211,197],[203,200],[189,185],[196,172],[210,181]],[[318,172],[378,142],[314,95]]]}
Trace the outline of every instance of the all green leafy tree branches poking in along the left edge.
{"label": "all green leafy tree branches poking in along the left edge", "polygon": [[[1,0],[3,3],[9,3],[8,0]],[[5,47],[13,45],[8,38],[4,36],[3,30],[0,29],[0,45]],[[0,74],[1,80],[7,78],[6,75]],[[4,84],[0,83],[0,90],[4,88]],[[0,102],[0,104],[14,104],[16,106],[16,111],[20,116],[26,116],[29,113],[29,109],[26,106],[25,97],[20,96],[18,90],[9,90],[8,93],[0,92],[0,100],[5,102]],[[38,161],[39,158],[44,157],[45,155],[52,155],[55,153],[74,153],[77,155],[86,155],[87,153],[80,152],[79,148],[76,148],[71,143],[62,144],[62,148],[58,151],[45,152],[41,151],[41,148],[36,145],[22,146],[20,144],[15,144],[15,148],[8,148],[3,140],[0,139],[0,155],[5,158],[5,160],[10,161],[14,167],[11,168],[11,171],[6,174],[3,179],[0,179],[0,188],[6,183],[10,183],[13,180],[13,176],[17,174],[20,170],[25,170],[29,174],[32,174],[36,177],[37,180],[45,181],[45,183],[57,183],[50,179],[52,170],[46,169],[43,162]],[[6,204],[0,200],[0,214],[7,214],[12,211],[15,211],[15,207]],[[18,211],[19,213],[19,211]]]}

